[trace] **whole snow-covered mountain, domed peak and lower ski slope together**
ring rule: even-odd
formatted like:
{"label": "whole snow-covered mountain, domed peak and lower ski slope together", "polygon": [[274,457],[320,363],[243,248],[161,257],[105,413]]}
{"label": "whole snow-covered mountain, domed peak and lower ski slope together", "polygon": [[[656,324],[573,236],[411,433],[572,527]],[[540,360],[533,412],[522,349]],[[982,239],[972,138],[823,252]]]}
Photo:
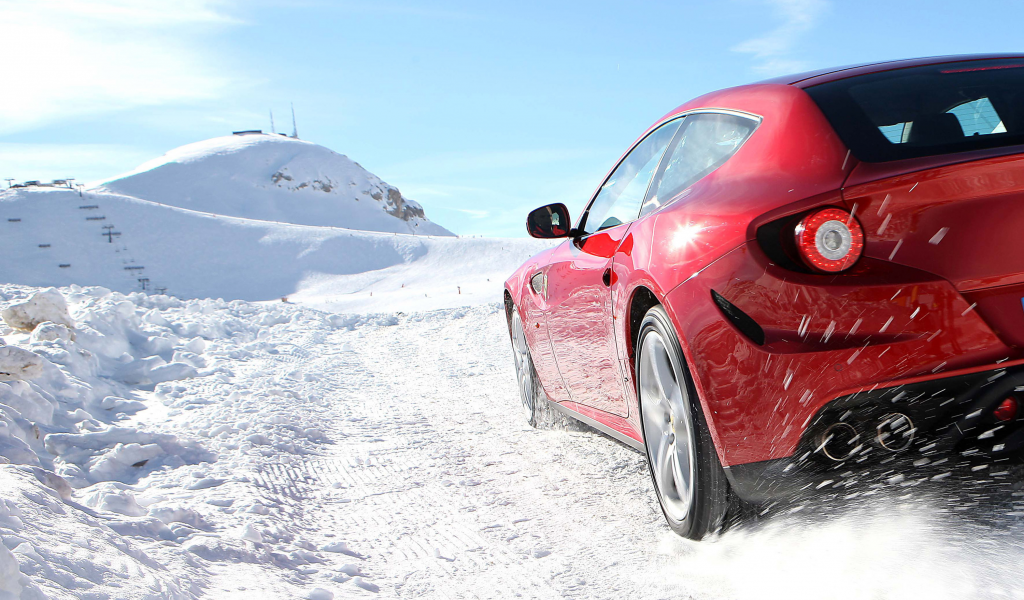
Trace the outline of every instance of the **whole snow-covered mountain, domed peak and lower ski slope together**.
{"label": "whole snow-covered mountain, domed peak and lower ski slope together", "polygon": [[498,301],[547,246],[457,238],[346,157],[281,135],[188,144],[81,195],[0,190],[0,283],[29,286],[417,310]]}

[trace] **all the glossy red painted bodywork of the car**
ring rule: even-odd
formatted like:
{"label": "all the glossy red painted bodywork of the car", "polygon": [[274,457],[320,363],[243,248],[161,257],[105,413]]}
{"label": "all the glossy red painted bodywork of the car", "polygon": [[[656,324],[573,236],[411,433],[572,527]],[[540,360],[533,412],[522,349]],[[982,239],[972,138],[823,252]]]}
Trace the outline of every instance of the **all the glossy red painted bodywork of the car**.
{"label": "all the glossy red painted bodywork of the car", "polygon": [[[640,440],[631,317],[647,294],[676,326],[725,466],[792,456],[844,395],[1024,365],[1024,147],[860,164],[802,89],[952,59],[741,86],[658,120],[648,132],[694,111],[761,122],[660,210],[567,239],[506,282],[548,395]],[[759,227],[818,207],[855,213],[863,257],[842,273],[770,259]],[[544,294],[530,289],[538,273]],[[723,314],[713,290],[762,327],[763,345]]]}

